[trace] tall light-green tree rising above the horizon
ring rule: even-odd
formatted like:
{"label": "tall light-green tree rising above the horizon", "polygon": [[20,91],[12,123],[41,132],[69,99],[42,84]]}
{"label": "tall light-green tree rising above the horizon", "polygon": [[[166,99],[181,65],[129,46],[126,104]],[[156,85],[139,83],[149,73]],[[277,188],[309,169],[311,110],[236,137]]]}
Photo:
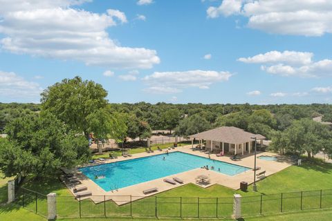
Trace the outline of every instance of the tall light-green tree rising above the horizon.
{"label": "tall light-green tree rising above the horizon", "polygon": [[88,116],[107,106],[107,91],[93,81],[80,77],[63,79],[42,93],[42,111],[48,111],[64,122],[68,129],[82,131],[89,137]]}

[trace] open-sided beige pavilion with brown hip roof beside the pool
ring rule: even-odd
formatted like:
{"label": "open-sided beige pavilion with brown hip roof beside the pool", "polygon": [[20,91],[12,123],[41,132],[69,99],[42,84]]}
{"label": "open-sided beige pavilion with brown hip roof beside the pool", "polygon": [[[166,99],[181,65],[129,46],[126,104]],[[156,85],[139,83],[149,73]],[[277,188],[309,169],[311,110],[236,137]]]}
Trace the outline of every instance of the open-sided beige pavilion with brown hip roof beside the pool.
{"label": "open-sided beige pavilion with brown hip roof beside the pool", "polygon": [[206,150],[223,151],[223,153],[232,154],[246,154],[250,153],[255,145],[255,138],[263,145],[263,140],[266,139],[263,135],[249,133],[241,128],[234,126],[221,126],[210,131],[204,131],[190,135],[192,138],[192,147],[194,147],[194,139],[199,140],[199,144],[206,141]]}

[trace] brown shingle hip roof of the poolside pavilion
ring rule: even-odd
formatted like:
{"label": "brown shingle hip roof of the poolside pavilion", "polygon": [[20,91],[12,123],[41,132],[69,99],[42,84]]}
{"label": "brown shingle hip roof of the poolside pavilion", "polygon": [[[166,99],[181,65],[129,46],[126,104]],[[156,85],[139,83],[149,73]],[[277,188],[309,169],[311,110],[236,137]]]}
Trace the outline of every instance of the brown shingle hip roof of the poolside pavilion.
{"label": "brown shingle hip roof of the poolside pavilion", "polygon": [[249,133],[243,131],[241,128],[234,126],[221,126],[210,131],[204,131],[190,135],[189,137],[200,140],[213,140],[216,142],[224,142],[229,144],[243,144],[245,142],[250,142],[253,140],[251,137],[257,137],[257,140],[266,138],[263,135]]}

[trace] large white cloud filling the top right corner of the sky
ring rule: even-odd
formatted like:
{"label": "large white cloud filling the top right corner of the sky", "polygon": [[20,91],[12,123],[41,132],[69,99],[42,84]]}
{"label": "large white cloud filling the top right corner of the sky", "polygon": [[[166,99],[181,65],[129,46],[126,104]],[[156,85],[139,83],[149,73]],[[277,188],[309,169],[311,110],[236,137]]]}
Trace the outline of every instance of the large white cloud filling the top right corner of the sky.
{"label": "large white cloud filling the top right corner of the sky", "polygon": [[242,15],[248,27],[282,35],[321,36],[332,32],[330,0],[223,0],[208,17]]}

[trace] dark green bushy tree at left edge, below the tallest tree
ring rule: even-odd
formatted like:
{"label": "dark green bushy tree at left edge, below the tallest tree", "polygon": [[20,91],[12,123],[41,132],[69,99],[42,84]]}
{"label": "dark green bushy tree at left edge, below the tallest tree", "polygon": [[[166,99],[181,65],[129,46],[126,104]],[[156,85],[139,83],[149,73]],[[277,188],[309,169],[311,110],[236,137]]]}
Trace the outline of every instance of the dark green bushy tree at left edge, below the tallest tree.
{"label": "dark green bushy tree at left edge, below the tallest tree", "polygon": [[42,177],[89,159],[84,135],[66,133],[65,124],[51,113],[14,119],[6,132],[8,138],[0,140],[0,169],[6,176],[24,173]]}

